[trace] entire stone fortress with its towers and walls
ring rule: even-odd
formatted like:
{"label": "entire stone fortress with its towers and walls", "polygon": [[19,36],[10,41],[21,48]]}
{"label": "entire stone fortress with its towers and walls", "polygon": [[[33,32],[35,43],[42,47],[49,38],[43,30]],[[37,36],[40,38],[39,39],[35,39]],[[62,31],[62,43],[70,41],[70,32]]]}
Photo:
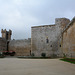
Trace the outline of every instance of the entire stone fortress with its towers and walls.
{"label": "entire stone fortress with its towers and walls", "polygon": [[31,27],[31,39],[11,40],[12,31],[2,29],[0,50],[14,50],[16,56],[75,58],[75,17],[56,18],[53,25]]}

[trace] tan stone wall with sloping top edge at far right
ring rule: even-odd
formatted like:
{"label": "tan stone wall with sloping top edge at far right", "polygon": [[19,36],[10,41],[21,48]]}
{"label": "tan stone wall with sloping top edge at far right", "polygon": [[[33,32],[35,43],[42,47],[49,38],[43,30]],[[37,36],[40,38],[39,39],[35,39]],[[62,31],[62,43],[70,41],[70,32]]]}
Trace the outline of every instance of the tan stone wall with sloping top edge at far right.
{"label": "tan stone wall with sloping top edge at far right", "polygon": [[69,58],[75,58],[75,21],[66,26],[63,32],[63,54]]}

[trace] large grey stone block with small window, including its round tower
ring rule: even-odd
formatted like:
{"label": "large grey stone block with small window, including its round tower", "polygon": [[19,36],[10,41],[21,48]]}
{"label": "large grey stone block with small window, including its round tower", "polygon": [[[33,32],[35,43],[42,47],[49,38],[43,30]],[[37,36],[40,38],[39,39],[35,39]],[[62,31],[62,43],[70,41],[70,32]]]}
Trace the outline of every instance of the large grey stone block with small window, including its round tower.
{"label": "large grey stone block with small window, including its round tower", "polygon": [[[64,23],[63,23],[64,22]],[[54,25],[32,27],[31,50],[35,56],[45,53],[47,57],[62,56],[62,30],[70,22],[66,18],[55,19]]]}

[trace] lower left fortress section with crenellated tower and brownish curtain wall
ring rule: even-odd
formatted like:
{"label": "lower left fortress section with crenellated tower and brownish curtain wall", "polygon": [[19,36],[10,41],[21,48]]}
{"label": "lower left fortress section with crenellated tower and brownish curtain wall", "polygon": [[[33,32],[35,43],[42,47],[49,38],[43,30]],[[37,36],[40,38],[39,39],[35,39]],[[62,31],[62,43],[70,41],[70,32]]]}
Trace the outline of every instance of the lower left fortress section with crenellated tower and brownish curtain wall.
{"label": "lower left fortress section with crenellated tower and brownish curtain wall", "polygon": [[31,55],[31,39],[11,40],[12,31],[1,30],[0,51],[15,51],[15,56]]}

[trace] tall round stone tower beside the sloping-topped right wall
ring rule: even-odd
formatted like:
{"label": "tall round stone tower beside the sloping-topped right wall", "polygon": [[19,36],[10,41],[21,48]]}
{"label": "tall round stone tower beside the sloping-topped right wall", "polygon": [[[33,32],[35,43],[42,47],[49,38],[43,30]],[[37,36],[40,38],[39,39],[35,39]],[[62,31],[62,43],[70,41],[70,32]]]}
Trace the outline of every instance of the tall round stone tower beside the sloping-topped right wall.
{"label": "tall round stone tower beside the sloping-topped right wall", "polygon": [[56,32],[57,32],[57,45],[58,45],[58,55],[59,57],[63,56],[63,36],[62,36],[62,32],[65,28],[65,26],[67,26],[70,23],[70,20],[67,18],[56,18],[55,19],[55,24],[56,24]]}

